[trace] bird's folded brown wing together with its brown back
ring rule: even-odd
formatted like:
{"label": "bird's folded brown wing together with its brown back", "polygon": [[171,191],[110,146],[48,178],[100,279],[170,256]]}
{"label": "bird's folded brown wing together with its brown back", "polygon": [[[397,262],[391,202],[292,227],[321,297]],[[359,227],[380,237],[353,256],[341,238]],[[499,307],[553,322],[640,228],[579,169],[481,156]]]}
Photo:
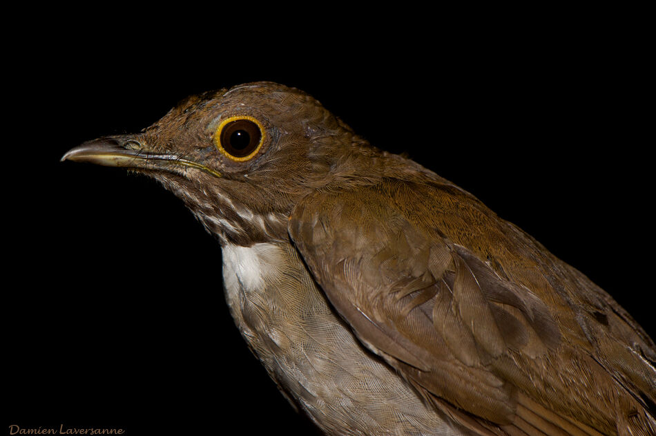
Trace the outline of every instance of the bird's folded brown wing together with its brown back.
{"label": "bird's folded brown wing together with its brown back", "polygon": [[[621,419],[653,430],[653,342],[469,193],[395,179],[326,188],[296,206],[289,235],[358,339],[475,433],[611,435]],[[590,305],[598,314],[581,321]],[[642,355],[601,355],[627,348],[621,335]]]}

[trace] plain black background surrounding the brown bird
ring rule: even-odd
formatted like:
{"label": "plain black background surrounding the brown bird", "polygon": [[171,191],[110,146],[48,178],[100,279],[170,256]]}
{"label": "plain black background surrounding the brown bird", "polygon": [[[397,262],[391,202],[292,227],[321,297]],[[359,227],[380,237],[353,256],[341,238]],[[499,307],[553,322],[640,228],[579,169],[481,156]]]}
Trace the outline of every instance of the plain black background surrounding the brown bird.
{"label": "plain black background surrounding the brown bird", "polygon": [[220,247],[182,202],[143,176],[59,162],[187,95],[254,80],[311,93],[372,144],[474,193],[654,336],[639,26],[587,12],[503,23],[418,13],[376,29],[348,16],[318,26],[274,14],[262,27],[195,11],[151,27],[157,17],[43,13],[5,54],[0,434],[313,431],[242,341]]}

